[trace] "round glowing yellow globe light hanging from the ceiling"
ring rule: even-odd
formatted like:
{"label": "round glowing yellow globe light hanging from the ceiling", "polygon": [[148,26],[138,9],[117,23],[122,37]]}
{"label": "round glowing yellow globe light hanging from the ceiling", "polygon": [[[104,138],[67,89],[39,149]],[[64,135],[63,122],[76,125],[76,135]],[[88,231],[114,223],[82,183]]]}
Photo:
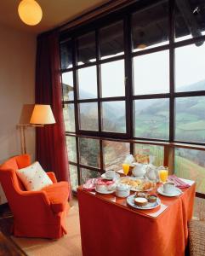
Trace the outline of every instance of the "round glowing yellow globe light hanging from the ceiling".
{"label": "round glowing yellow globe light hanging from the ceiling", "polygon": [[43,16],[42,9],[35,0],[22,0],[19,4],[18,13],[20,20],[30,26],[37,25]]}

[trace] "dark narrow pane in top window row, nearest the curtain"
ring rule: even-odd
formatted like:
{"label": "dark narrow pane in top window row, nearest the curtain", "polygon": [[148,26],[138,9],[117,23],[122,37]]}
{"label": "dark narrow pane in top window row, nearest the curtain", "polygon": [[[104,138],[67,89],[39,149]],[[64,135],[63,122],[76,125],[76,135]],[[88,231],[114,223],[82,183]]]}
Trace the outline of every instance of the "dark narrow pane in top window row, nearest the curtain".
{"label": "dark narrow pane in top window row, nearest the curtain", "polygon": [[67,40],[65,43],[60,44],[60,58],[61,58],[62,69],[72,67],[71,39]]}

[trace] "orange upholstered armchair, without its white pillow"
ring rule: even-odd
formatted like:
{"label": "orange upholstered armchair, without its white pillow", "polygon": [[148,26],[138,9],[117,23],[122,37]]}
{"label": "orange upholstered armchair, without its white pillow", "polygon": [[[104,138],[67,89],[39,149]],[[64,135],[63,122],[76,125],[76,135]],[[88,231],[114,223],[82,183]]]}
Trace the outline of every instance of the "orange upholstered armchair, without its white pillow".
{"label": "orange upholstered armchair, without its white pillow", "polygon": [[66,234],[69,184],[57,183],[54,172],[47,172],[52,185],[40,191],[26,191],[16,170],[30,165],[30,155],[23,154],[0,166],[0,182],[14,214],[14,236],[60,238]]}

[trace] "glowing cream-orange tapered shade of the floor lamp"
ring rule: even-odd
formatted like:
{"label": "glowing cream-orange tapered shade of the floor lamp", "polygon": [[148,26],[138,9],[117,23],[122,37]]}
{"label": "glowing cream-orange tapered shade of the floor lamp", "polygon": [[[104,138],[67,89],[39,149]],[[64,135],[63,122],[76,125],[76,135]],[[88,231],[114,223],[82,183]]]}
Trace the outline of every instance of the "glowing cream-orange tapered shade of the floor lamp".
{"label": "glowing cream-orange tapered shade of the floor lamp", "polygon": [[54,114],[50,108],[50,105],[35,105],[31,114],[30,124],[48,125],[54,123]]}

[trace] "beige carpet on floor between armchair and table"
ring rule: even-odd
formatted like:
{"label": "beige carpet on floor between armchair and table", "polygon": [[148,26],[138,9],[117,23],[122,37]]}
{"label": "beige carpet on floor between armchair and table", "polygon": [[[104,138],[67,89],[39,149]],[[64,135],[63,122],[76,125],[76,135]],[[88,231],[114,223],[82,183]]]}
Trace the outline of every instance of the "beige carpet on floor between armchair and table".
{"label": "beige carpet on floor between armchair and table", "polygon": [[81,236],[77,201],[73,202],[73,206],[68,212],[66,227],[68,234],[57,241],[14,236],[11,236],[11,238],[28,256],[81,256]]}

